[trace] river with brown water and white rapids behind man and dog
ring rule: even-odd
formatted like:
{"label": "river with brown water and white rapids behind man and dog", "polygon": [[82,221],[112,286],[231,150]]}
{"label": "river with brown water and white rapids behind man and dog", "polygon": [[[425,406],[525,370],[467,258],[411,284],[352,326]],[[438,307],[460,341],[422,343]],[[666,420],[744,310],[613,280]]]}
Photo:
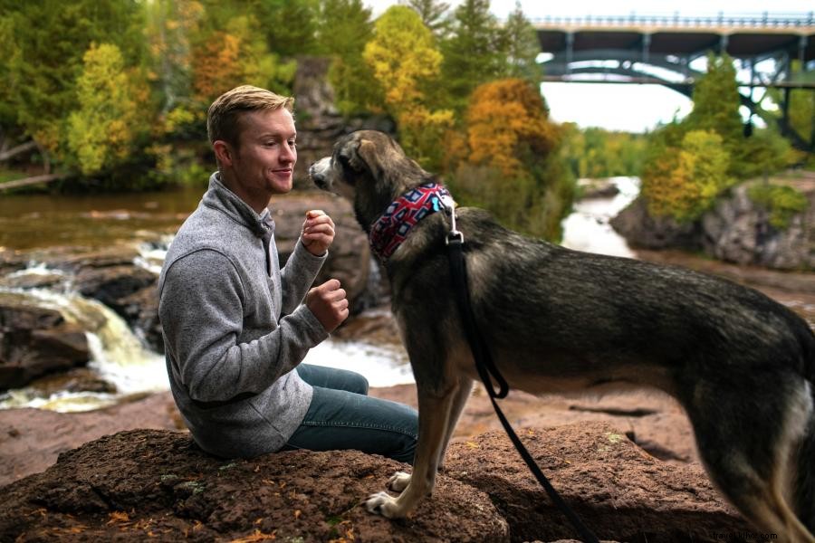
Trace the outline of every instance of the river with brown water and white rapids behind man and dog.
{"label": "river with brown water and white rapids behind man and dog", "polygon": [[[563,222],[563,245],[587,252],[635,257],[609,225],[609,220],[638,194],[638,179],[616,177],[618,194],[583,199]],[[86,330],[91,346],[89,367],[116,387],[116,393],[42,391],[25,387],[0,394],[0,408],[32,406],[55,411],[82,411],[115,404],[123,396],[168,389],[164,357],[144,347],[136,331],[96,300],[83,298],[70,285],[20,289],[19,276],[59,274],[37,262],[38,250],[56,246],[107,247],[133,243],[137,263],[158,273],[172,233],[195,209],[201,189],[137,195],[0,196],[0,258],[3,251],[26,252],[32,260],[16,277],[0,277],[0,299],[24,298],[26,303],[60,310],[63,317]],[[2,262],[0,262],[2,263]],[[14,275],[13,274],[13,275]],[[30,279],[30,278],[29,278]],[[815,306],[812,308],[815,311]],[[372,310],[358,319],[381,319]],[[312,364],[360,371],[371,386],[413,381],[408,357],[397,343],[334,339],[313,348],[305,359]]]}

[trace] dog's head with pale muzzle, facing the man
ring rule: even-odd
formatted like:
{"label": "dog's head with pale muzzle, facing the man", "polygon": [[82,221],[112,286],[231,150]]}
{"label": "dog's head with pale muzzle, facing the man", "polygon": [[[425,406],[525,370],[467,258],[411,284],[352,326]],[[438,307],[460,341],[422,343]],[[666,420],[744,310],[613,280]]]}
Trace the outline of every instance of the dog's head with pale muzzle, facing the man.
{"label": "dog's head with pale muzzle, facing the man", "polygon": [[309,176],[322,190],[348,198],[367,228],[398,195],[426,182],[430,174],[387,134],[359,130],[340,138],[331,157],[312,164]]}

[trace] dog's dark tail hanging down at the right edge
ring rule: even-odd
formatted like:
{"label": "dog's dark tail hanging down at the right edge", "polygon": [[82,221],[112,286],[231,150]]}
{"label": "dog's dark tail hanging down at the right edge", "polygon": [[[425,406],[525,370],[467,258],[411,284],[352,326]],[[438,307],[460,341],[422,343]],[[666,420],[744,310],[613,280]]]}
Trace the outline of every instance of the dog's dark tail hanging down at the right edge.
{"label": "dog's dark tail hanging down at the right edge", "polygon": [[[815,334],[810,329],[801,334],[801,347],[804,376],[809,382],[812,405],[815,405]],[[795,509],[803,525],[815,535],[815,409],[810,410],[797,468]]]}

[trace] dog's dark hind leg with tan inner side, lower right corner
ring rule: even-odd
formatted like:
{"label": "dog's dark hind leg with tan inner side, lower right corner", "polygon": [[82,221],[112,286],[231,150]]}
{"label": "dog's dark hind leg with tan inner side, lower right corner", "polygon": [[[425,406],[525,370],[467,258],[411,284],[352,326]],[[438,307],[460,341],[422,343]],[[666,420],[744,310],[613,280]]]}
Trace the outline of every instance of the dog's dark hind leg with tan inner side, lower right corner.
{"label": "dog's dark hind leg with tan inner side, lower right corner", "polygon": [[702,391],[707,386],[697,387],[688,414],[712,481],[744,517],[781,541],[815,543],[790,507],[791,467],[812,400],[800,380],[796,385],[783,381],[780,377],[775,386],[767,384],[766,394],[751,398],[753,405],[761,405],[758,416],[746,415],[743,391],[719,388],[707,395]]}

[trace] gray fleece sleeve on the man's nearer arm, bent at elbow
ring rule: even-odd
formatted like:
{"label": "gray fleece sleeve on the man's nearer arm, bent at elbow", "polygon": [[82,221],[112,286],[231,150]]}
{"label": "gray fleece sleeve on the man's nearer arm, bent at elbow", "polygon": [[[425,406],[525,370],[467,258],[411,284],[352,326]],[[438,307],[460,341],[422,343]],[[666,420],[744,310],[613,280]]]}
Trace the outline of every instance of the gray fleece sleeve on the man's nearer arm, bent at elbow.
{"label": "gray fleece sleeve on the man's nearer arm, bent at elbow", "polygon": [[239,343],[245,297],[240,273],[221,252],[191,252],[165,272],[159,318],[182,384],[197,401],[260,393],[328,337],[301,306],[264,336]]}

